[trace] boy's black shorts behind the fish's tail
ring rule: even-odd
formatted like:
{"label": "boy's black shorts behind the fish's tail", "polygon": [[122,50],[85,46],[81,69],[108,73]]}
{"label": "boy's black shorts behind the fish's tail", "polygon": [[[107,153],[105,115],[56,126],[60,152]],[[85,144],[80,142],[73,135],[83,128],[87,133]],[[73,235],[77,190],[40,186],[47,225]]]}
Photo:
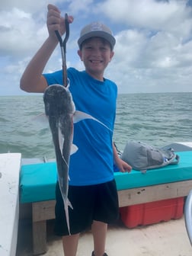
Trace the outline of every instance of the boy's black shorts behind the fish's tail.
{"label": "boy's black shorts behind the fish's tail", "polygon": [[[91,227],[93,220],[113,223],[119,216],[119,204],[115,181],[90,186],[69,186],[69,226],[72,235]],[[62,195],[56,184],[56,235],[69,235],[66,226]]]}

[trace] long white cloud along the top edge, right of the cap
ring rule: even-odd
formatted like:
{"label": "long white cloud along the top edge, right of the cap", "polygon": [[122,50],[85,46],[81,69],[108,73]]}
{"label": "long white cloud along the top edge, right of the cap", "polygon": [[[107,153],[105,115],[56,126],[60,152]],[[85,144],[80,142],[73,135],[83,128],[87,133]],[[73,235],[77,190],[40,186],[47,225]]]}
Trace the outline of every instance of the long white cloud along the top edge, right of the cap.
{"label": "long white cloud along the top edge, right of the cap", "polygon": [[98,9],[117,23],[151,30],[164,30],[165,27],[174,30],[173,24],[184,24],[191,13],[186,1],[179,0],[107,0],[98,5]]}

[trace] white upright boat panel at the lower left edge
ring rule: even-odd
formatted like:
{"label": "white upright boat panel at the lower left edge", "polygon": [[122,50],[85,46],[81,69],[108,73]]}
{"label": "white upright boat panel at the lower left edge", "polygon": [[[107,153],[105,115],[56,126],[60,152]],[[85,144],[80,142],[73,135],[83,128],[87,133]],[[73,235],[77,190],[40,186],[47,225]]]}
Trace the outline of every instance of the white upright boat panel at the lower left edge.
{"label": "white upright boat panel at the lower left edge", "polygon": [[20,153],[0,154],[0,255],[14,256],[18,239]]}

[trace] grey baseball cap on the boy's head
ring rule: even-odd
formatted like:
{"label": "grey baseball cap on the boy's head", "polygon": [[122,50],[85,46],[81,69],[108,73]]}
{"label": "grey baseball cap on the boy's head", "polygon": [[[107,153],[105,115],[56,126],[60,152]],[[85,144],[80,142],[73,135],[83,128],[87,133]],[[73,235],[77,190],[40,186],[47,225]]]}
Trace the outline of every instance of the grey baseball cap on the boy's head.
{"label": "grey baseball cap on the boy's head", "polygon": [[105,26],[101,22],[92,22],[91,24],[88,24],[87,26],[82,28],[80,37],[78,39],[79,48],[81,47],[83,41],[91,37],[104,38],[110,43],[112,49],[114,49],[116,40],[112,34],[112,31],[109,27]]}

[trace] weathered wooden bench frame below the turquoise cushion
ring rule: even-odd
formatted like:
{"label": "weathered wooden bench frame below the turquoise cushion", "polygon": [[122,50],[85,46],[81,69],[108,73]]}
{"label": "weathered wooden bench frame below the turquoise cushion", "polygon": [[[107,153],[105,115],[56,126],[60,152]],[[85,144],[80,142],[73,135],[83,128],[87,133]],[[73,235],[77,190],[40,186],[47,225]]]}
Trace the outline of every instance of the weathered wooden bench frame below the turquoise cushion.
{"label": "weathered wooden bench frame below the turquoise cushion", "polygon": [[[185,197],[189,194],[191,187],[192,180],[119,190],[120,207]],[[34,254],[43,254],[47,250],[46,220],[55,218],[55,203],[55,200],[32,203]]]}

